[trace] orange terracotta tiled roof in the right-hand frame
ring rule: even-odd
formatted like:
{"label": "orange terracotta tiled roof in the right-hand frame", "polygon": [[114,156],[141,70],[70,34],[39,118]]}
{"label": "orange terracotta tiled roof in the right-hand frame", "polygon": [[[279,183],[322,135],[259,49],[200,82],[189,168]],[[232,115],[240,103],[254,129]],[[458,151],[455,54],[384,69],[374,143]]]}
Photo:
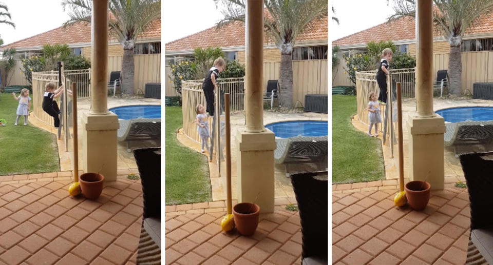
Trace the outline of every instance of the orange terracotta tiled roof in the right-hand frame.
{"label": "orange terracotta tiled roof in the right-hand frame", "polygon": [[[493,35],[493,11],[481,15],[477,22],[466,30],[466,35],[491,33]],[[380,40],[415,39],[415,20],[411,17],[400,17],[390,23],[382,23],[375,27],[360,31],[349,36],[336,39],[332,45],[357,45]],[[435,32],[435,37],[442,36]]]}

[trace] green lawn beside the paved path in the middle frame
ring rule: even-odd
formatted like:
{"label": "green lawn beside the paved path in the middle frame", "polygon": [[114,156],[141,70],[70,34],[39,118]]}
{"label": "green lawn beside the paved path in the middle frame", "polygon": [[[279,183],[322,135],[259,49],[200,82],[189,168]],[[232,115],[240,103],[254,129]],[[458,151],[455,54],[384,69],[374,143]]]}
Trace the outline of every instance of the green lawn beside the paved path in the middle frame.
{"label": "green lawn beside the paved path in the middle frame", "polygon": [[207,157],[176,138],[182,127],[181,107],[165,107],[166,205],[212,200]]}

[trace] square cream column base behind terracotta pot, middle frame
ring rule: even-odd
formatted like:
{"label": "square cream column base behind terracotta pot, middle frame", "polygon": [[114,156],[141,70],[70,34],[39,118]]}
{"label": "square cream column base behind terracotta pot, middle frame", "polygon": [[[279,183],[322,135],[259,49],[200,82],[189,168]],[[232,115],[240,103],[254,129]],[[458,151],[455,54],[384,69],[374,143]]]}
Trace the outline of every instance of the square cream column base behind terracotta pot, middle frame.
{"label": "square cream column base behind terracotta pot, middle frame", "polygon": [[238,202],[255,202],[262,213],[274,212],[274,133],[267,130],[249,133],[240,128],[236,134],[238,147]]}

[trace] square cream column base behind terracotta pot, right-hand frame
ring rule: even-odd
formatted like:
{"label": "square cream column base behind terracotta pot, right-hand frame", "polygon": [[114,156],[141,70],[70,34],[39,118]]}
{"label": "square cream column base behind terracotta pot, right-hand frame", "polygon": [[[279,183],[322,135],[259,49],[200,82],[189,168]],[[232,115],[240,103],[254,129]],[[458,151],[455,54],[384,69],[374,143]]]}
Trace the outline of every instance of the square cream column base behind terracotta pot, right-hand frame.
{"label": "square cream column base behind terracotta pot, right-hand frame", "polygon": [[431,190],[444,188],[444,145],[445,121],[440,115],[418,117],[409,116],[409,179],[425,180]]}

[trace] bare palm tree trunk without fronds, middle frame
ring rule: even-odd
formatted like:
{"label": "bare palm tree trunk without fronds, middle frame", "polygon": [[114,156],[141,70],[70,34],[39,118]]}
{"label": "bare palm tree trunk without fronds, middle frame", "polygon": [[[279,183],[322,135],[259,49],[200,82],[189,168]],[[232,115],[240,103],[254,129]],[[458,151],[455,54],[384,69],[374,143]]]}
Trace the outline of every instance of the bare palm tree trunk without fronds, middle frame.
{"label": "bare palm tree trunk without fronds, middle frame", "polygon": [[293,64],[292,54],[281,54],[279,66],[279,103],[281,107],[291,109],[293,107]]}

